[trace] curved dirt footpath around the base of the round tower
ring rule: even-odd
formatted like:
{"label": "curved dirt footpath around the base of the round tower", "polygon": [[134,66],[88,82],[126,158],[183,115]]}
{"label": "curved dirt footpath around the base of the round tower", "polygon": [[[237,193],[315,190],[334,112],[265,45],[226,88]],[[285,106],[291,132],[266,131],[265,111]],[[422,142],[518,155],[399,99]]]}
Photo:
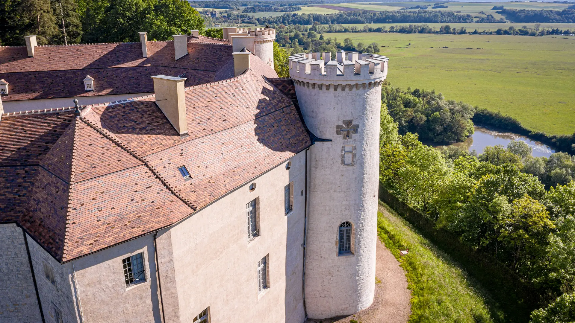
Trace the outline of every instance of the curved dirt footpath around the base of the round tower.
{"label": "curved dirt footpath around the base of the round tower", "polygon": [[306,323],[405,323],[411,313],[411,291],[399,262],[377,241],[375,255],[375,297],[367,309],[347,317],[308,320]]}

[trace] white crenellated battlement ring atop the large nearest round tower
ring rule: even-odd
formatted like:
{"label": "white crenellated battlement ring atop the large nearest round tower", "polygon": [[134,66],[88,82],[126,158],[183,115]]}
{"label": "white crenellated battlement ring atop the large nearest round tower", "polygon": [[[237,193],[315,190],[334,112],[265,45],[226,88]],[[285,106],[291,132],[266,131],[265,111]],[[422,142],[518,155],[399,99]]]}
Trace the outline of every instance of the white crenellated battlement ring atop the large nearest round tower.
{"label": "white crenellated battlement ring atop the large nearest round tower", "polygon": [[289,56],[290,76],[303,82],[343,84],[378,82],[388,74],[386,56],[343,51],[337,56],[338,60],[331,60],[329,52]]}

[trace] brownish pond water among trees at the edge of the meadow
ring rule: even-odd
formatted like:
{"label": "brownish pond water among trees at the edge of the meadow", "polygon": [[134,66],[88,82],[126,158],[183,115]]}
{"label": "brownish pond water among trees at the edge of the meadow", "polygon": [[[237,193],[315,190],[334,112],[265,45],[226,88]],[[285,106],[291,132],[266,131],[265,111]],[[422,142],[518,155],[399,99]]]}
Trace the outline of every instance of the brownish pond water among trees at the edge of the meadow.
{"label": "brownish pond water among trees at the edge of the meadow", "polygon": [[525,143],[533,149],[532,155],[534,157],[549,157],[555,152],[553,148],[550,148],[539,141],[533,141],[527,137],[520,136],[519,134],[511,132],[501,133],[479,126],[475,127],[475,133],[467,140],[453,145],[465,148],[469,151],[475,149],[477,153],[482,153],[483,149],[487,146],[503,145],[503,147],[507,147],[507,144],[509,144],[511,140],[525,141]]}

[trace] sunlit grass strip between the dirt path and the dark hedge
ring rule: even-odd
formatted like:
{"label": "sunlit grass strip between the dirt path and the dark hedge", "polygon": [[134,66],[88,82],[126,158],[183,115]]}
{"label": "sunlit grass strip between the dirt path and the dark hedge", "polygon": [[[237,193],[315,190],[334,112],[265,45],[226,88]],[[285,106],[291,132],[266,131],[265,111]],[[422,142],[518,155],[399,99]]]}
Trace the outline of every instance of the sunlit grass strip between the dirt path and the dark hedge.
{"label": "sunlit grass strip between the dirt path and the dark hedge", "polygon": [[[497,304],[450,256],[380,202],[378,235],[404,268],[412,291],[409,322],[503,322]],[[409,248],[408,255],[400,250]]]}

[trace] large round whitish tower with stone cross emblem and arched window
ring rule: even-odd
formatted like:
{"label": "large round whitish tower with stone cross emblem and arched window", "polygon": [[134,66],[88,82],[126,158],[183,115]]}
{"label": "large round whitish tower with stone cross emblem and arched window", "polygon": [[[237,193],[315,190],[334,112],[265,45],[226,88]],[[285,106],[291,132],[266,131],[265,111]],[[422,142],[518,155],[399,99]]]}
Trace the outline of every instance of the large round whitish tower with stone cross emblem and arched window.
{"label": "large round whitish tower with stone cross emblem and arched window", "polygon": [[309,151],[305,305],[309,318],[359,312],[375,289],[379,117],[388,57],[289,57],[301,113],[321,139]]}

